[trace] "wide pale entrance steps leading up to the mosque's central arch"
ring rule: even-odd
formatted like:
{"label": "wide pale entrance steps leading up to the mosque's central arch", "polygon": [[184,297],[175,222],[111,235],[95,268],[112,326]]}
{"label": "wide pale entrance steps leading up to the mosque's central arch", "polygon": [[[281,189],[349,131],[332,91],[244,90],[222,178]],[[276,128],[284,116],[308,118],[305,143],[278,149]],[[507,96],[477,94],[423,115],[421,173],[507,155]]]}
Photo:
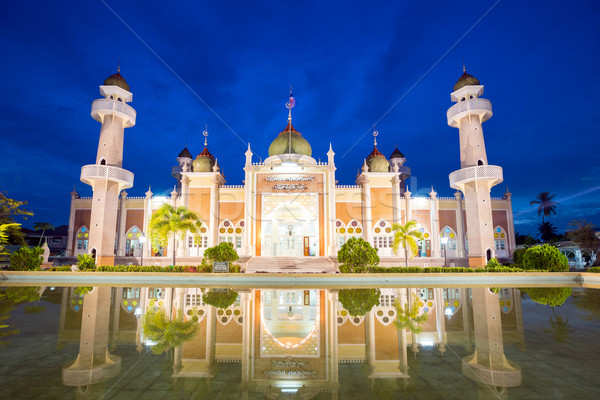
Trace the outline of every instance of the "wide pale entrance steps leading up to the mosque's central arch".
{"label": "wide pale entrance steps leading up to the mosque's central arch", "polygon": [[246,264],[247,273],[335,273],[327,257],[252,257]]}

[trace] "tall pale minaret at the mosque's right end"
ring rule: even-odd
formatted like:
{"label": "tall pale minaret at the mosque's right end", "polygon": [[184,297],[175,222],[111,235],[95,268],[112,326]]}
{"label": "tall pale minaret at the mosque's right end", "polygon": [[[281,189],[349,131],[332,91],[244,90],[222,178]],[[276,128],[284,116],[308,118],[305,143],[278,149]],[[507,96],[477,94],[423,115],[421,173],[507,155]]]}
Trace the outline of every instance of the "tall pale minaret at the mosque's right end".
{"label": "tall pale minaret at the mosque's right end", "polygon": [[460,167],[450,174],[450,186],[463,192],[467,213],[469,266],[482,267],[494,257],[494,227],[490,190],[502,182],[502,168],[488,165],[481,124],[492,117],[492,104],[479,96],[483,85],[464,72],[450,98],[448,125],[458,128]]}

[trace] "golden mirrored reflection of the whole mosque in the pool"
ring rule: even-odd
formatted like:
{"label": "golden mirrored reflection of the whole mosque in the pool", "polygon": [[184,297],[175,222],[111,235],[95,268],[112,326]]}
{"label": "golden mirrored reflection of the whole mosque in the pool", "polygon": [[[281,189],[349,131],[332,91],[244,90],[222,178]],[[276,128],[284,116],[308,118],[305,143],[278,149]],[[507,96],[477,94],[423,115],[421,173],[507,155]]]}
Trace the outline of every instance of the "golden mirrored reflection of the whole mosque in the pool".
{"label": "golden mirrored reflection of the whole mosque in the pool", "polygon": [[504,354],[504,343],[524,346],[517,289],[88,290],[64,288],[59,327],[59,345],[79,343],[63,383],[82,394],[124,373],[117,346],[135,345],[140,354],[157,346],[144,332],[147,315],[157,313],[167,325],[177,316],[178,326],[193,325],[182,342],[165,331],[172,378],[211,382],[219,371],[236,371],[227,379],[240,398],[336,399],[344,364],[366,366],[371,388],[381,380],[406,387],[409,358],[423,346],[442,356],[462,347],[469,354],[463,379],[477,385],[480,398],[507,398],[508,388],[521,384],[520,367]]}

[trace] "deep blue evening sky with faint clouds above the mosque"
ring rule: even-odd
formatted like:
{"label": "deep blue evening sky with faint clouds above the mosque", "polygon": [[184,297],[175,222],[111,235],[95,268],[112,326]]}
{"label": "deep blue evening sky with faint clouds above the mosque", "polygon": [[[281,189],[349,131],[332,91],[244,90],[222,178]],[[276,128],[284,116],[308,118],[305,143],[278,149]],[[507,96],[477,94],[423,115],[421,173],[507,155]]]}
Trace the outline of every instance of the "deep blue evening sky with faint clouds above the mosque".
{"label": "deep blue evening sky with faint clouds above the mosque", "polygon": [[529,201],[543,191],[561,203],[559,230],[600,225],[599,2],[212,3],[3,4],[0,191],[29,202],[25,227],[67,224],[74,185],[91,196],[79,181],[98,145],[90,107],[119,61],[137,111],[130,196],[170,192],[175,158],[202,150],[205,124],[227,183],[241,184],[247,143],[264,160],[286,125],[290,85],[294,126],[317,160],[332,143],[340,184],[354,184],[377,123],[379,150],[405,154],[413,193],[451,196],[460,159],[446,110],[464,60],[492,102],[487,155],[504,168],[492,196],[509,187],[516,231],[535,232]]}

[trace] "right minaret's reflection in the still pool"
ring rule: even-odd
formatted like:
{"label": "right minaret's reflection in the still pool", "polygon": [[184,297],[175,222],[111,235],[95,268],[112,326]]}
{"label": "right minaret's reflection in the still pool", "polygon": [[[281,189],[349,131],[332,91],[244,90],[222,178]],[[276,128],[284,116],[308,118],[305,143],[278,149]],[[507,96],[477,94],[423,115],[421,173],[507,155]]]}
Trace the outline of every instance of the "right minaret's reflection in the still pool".
{"label": "right minaret's reflection in the still pool", "polygon": [[488,288],[473,288],[471,292],[475,352],[463,358],[463,374],[480,384],[480,398],[507,398],[506,388],[521,384],[521,368],[504,355],[498,295]]}

